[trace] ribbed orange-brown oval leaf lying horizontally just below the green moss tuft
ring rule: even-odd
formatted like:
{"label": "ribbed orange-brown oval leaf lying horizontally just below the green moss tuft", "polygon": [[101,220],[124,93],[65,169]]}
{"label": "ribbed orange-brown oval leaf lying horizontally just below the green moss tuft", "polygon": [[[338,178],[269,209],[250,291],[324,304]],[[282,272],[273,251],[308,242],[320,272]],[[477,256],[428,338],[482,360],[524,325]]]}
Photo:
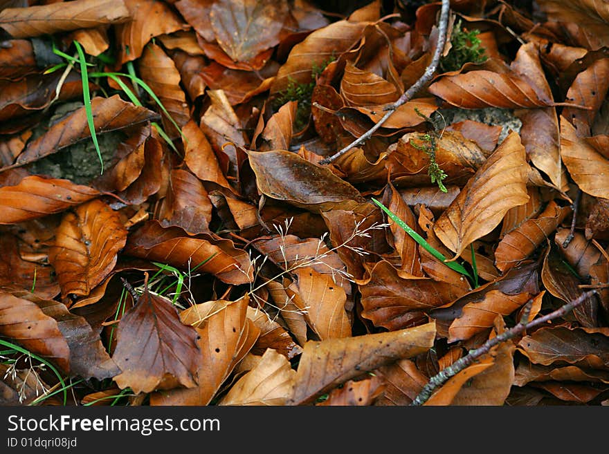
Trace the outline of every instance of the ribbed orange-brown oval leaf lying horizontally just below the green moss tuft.
{"label": "ribbed orange-brown oval leaf lying horizontally just below the green moss tuft", "polygon": [[472,70],[444,76],[429,86],[430,93],[460,108],[535,108],[554,106],[540,98],[528,81],[515,74]]}

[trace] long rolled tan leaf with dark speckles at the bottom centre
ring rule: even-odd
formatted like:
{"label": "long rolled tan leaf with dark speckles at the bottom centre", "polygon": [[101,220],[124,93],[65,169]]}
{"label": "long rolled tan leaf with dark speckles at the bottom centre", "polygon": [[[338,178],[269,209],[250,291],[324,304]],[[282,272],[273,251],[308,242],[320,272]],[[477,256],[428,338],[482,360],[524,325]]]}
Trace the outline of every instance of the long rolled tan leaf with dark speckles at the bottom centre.
{"label": "long rolled tan leaf with dark speckles at the bottom centre", "polygon": [[394,332],[309,341],[298,363],[294,395],[287,404],[307,404],[366,371],[426,352],[434,337],[435,323],[426,323]]}

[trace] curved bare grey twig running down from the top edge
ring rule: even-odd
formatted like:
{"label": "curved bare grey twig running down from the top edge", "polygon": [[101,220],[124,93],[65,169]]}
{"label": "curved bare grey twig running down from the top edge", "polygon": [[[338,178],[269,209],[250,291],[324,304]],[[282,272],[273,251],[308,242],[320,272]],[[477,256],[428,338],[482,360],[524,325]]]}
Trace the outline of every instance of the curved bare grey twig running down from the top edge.
{"label": "curved bare grey twig running down from the top edge", "polygon": [[399,97],[399,100],[397,100],[393,104],[390,104],[389,106],[385,107],[385,111],[387,111],[387,113],[385,113],[385,115],[383,115],[383,117],[381,117],[381,120],[376,122],[376,124],[374,124],[374,126],[372,126],[372,128],[368,129],[368,131],[363,133],[363,135],[361,135],[359,138],[357,138],[356,140],[354,140],[353,142],[351,142],[350,144],[345,146],[345,148],[338,151],[338,153],[335,153],[334,155],[331,155],[327,158],[322,159],[320,161],[320,164],[322,164],[322,165],[329,164],[330,162],[340,158],[340,156],[347,153],[347,151],[352,149],[354,146],[357,146],[357,145],[361,144],[362,142],[365,142],[366,140],[370,139],[372,137],[372,134],[377,129],[379,129],[383,125],[383,123],[385,123],[387,121],[387,119],[392,115],[392,113],[394,113],[394,111],[396,111],[396,109],[399,106],[401,106],[402,104],[406,104],[406,102],[410,101],[412,99],[412,97],[414,97],[417,94],[417,92],[421,88],[423,88],[423,86],[427,82],[429,82],[431,80],[431,78],[433,77],[433,73],[435,73],[435,70],[438,66],[440,56],[442,55],[442,52],[444,51],[444,44],[446,43],[446,29],[448,28],[448,12],[450,11],[450,6],[451,6],[450,0],[442,0],[442,10],[440,12],[440,19],[439,19],[439,23],[438,23],[437,45],[435,48],[435,52],[433,53],[431,63],[426,68],[425,73],[417,80],[417,82],[415,82],[415,84],[412,84],[412,86],[410,86],[410,88],[408,88],[408,90],[405,91],[403,93],[403,95],[401,95]]}

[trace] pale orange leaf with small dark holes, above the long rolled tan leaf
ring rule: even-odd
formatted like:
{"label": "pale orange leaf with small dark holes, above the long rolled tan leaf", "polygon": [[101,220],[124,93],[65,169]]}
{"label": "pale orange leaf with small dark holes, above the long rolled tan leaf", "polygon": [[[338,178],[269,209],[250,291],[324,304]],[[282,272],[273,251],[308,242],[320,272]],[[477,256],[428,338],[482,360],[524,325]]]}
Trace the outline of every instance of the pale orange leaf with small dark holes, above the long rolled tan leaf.
{"label": "pale orange leaf with small dark holes, above the long rolled tan leaf", "polygon": [[319,339],[350,337],[351,323],[345,311],[347,295],[328,274],[304,267],[293,272],[296,282],[287,289],[293,303],[305,313],[305,320]]}

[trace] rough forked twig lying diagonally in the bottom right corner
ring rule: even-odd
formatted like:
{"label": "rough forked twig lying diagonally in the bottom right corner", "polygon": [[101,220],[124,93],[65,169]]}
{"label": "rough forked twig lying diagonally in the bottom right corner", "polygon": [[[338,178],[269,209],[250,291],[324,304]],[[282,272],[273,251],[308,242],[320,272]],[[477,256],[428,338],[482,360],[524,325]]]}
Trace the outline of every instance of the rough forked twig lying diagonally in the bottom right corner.
{"label": "rough forked twig lying diagonally in the bottom right corner", "polygon": [[513,326],[513,328],[510,328],[505,332],[502,332],[501,334],[498,334],[496,337],[493,337],[493,339],[489,339],[484,343],[482,347],[477,348],[475,350],[471,350],[469,354],[466,354],[466,356],[462,357],[458,361],[455,361],[455,363],[453,363],[451,366],[448,366],[444,370],[440,371],[437,375],[431,377],[427,384],[423,387],[421,392],[419,392],[419,395],[415,397],[415,400],[413,400],[412,404],[410,405],[423,405],[431,397],[436,388],[442,386],[444,383],[446,383],[446,381],[448,381],[448,379],[450,379],[454,375],[457,375],[466,367],[470,366],[476,359],[481,357],[483,354],[487,354],[488,352],[490,352],[491,348],[493,348],[494,346],[497,346],[498,344],[505,342],[508,339],[516,337],[516,335],[520,334],[525,330],[529,330],[530,328],[534,328],[547,321],[556,319],[559,316],[564,316],[565,314],[579,306],[581,303],[583,303],[586,299],[588,299],[588,297],[598,293],[599,292],[597,292],[597,290],[590,290],[589,292],[584,292],[576,299],[574,299],[570,303],[562,305],[561,308],[558,308],[554,312],[550,312],[549,314],[546,314],[544,316],[539,317],[538,319],[526,323],[527,319],[529,318],[529,311],[531,310],[531,304],[533,302],[533,300],[530,299],[527,302],[527,306],[525,307],[522,317],[520,318],[520,321],[517,325]]}

